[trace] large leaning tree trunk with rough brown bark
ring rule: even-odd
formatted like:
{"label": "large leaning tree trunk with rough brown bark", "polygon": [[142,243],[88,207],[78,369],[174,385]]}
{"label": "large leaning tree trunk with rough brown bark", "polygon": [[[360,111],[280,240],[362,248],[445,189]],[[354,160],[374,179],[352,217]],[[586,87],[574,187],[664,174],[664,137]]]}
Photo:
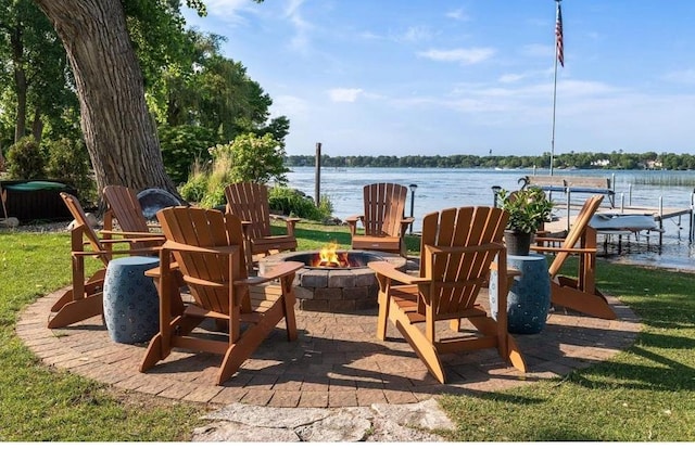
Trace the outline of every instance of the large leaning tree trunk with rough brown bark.
{"label": "large leaning tree trunk with rough brown bark", "polygon": [[99,192],[119,184],[176,193],[164,171],[121,1],[35,1],[53,23],[73,68]]}

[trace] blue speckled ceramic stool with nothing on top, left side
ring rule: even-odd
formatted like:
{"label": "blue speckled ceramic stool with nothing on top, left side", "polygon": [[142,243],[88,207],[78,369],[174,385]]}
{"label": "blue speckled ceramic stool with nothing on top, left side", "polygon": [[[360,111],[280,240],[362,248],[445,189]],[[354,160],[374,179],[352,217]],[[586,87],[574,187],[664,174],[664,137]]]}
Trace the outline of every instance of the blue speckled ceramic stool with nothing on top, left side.
{"label": "blue speckled ceramic stool with nothing on top, left side", "polygon": [[104,322],[116,343],[141,343],[160,331],[160,297],[152,278],[144,275],[160,265],[159,257],[122,257],[106,267]]}

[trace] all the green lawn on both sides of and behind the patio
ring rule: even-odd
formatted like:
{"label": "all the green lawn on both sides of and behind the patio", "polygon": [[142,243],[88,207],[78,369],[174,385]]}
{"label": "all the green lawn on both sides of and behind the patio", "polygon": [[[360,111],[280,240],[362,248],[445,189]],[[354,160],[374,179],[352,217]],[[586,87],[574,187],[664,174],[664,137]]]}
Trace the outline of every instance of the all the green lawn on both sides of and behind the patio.
{"label": "all the green lawn on both sides of and behind the patio", "polygon": [[[300,222],[300,249],[345,228]],[[417,238],[408,238],[417,251]],[[70,284],[67,234],[0,233],[0,440],[188,440],[202,407],[117,392],[39,363],[14,334],[17,315]],[[94,265],[92,268],[96,268]],[[571,266],[568,270],[571,270]],[[643,320],[628,350],[561,380],[442,396],[451,440],[695,440],[693,274],[598,264],[598,286]]]}

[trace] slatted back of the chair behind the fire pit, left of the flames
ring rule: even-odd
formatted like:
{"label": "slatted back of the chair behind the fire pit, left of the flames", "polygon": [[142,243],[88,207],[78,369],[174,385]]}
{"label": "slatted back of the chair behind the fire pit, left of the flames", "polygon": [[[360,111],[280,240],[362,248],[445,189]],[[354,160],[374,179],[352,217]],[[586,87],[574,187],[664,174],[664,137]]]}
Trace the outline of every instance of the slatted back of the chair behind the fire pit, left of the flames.
{"label": "slatted back of the chair behind the fire pit, left of the flames", "polygon": [[225,188],[227,211],[251,224],[247,228],[250,239],[270,235],[270,208],[268,188],[254,182],[237,182]]}

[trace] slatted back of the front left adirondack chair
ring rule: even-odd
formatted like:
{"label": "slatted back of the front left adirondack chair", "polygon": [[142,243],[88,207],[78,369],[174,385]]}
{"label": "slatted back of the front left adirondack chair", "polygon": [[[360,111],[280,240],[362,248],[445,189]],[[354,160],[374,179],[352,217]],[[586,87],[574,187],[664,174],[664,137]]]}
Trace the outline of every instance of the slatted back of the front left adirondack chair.
{"label": "slatted back of the front left adirondack chair", "polygon": [[[176,243],[201,247],[238,245],[241,248],[243,245],[241,221],[220,210],[176,206],[157,211],[156,217],[166,239]],[[240,249],[237,257],[233,271],[229,272],[227,255],[174,252],[184,280],[205,281],[188,282],[197,304],[224,315],[230,313],[228,282],[247,278],[243,251]]]}

